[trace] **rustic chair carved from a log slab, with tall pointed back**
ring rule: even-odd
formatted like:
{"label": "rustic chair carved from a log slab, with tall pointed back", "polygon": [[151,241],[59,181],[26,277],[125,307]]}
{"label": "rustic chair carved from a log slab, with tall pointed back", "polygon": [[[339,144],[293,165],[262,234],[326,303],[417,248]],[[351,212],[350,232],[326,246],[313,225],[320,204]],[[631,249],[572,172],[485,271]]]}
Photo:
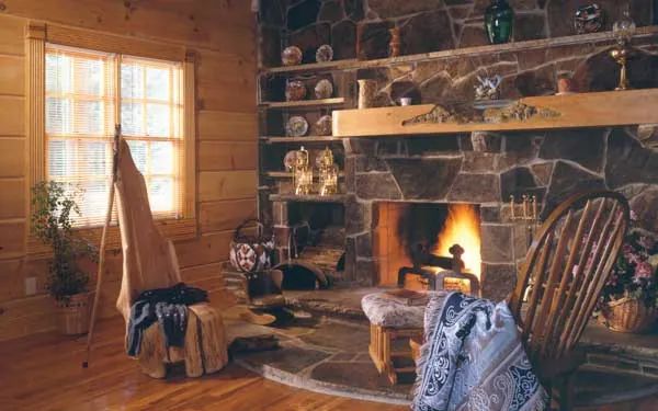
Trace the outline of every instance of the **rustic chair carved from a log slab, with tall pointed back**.
{"label": "rustic chair carved from a log slab, with tall pointed back", "polygon": [[[140,292],[171,287],[181,282],[181,274],[173,244],[154,224],[145,180],[128,145],[120,139],[117,147],[115,191],[124,261],[116,308],[127,327],[131,307]],[[184,361],[189,377],[219,370],[228,363],[222,315],[206,304],[189,308],[183,347],[167,350],[158,322],[144,333],[138,361],[149,376],[166,377],[166,363]]]}

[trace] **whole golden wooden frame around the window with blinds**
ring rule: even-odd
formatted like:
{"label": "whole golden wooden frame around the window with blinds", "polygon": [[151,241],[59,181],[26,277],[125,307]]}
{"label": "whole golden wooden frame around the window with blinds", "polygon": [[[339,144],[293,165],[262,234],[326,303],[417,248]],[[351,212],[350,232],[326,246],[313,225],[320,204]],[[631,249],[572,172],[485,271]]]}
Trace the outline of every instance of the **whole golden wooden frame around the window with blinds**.
{"label": "whole golden wooden frame around the window with blinds", "polygon": [[[29,187],[47,179],[46,130],[45,130],[45,57],[46,43],[87,48],[92,50],[125,54],[135,57],[180,61],[183,68],[183,149],[184,176],[182,218],[158,219],[156,226],[169,239],[190,239],[198,236],[196,210],[196,53],[183,46],[166,45],[158,42],[135,39],[127,36],[103,34],[57,24],[30,22],[25,27],[25,132],[29,144]],[[30,210],[29,210],[30,212]],[[31,213],[29,213],[29,216]],[[114,221],[116,222],[116,221]],[[30,224],[30,218],[27,218]],[[101,227],[79,228],[86,238],[100,242]],[[121,247],[118,227],[113,225],[107,232],[110,249]],[[29,236],[29,254],[47,254],[48,248],[36,238]]]}

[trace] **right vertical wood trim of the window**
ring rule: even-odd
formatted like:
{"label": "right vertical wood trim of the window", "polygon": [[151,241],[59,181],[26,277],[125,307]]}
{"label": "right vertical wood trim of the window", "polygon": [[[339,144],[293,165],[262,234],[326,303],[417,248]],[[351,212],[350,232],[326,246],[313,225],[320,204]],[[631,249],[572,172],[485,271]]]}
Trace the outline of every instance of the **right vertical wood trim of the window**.
{"label": "right vertical wood trim of the window", "polygon": [[184,206],[185,218],[194,218],[196,210],[196,52],[188,50],[183,65],[184,99]]}

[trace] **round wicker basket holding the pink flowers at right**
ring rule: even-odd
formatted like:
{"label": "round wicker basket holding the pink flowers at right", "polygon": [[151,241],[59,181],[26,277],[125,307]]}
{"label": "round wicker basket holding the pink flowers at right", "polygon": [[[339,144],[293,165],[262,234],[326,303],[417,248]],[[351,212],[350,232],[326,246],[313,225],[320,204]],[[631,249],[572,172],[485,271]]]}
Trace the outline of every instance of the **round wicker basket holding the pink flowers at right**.
{"label": "round wicker basket holding the pink flowers at right", "polygon": [[642,333],[649,331],[656,322],[656,307],[647,307],[632,298],[621,298],[608,302],[602,310],[602,322],[619,332]]}

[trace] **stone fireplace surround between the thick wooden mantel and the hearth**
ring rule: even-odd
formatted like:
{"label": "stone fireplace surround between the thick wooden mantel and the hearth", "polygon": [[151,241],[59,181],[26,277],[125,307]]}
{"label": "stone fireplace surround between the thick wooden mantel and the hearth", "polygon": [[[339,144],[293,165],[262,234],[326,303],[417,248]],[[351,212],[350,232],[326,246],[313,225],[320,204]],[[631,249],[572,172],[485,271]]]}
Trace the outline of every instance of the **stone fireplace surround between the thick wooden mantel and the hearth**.
{"label": "stone fireplace surround between the thick wooden mantel and the hearth", "polygon": [[477,206],[483,296],[492,299],[512,290],[531,241],[527,226],[510,218],[512,195],[536,196],[542,220],[570,194],[612,189],[658,231],[658,153],[642,147],[636,128],[345,139],[345,279],[390,283],[383,206]]}

